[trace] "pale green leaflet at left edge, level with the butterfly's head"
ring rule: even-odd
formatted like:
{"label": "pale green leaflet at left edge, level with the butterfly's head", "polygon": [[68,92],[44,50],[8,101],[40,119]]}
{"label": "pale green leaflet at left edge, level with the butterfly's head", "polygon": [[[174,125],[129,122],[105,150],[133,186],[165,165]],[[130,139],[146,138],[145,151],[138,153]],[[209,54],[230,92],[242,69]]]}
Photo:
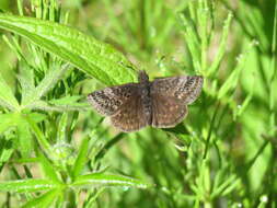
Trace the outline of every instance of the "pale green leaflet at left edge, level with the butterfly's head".
{"label": "pale green leaflet at left edge, level with the butterfly's head", "polygon": [[0,73],[0,105],[8,107],[10,109],[19,108],[19,103],[14,97],[11,88],[5,83],[1,73]]}

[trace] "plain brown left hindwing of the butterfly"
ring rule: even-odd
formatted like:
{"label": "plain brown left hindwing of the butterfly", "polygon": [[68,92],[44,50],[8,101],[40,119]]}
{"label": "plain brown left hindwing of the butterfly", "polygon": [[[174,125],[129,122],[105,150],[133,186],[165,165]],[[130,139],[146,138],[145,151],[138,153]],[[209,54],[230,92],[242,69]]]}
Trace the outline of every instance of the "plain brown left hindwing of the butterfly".
{"label": "plain brown left hindwing of the butterfly", "polygon": [[149,114],[143,111],[142,96],[138,91],[111,116],[112,124],[123,131],[135,131],[149,125]]}

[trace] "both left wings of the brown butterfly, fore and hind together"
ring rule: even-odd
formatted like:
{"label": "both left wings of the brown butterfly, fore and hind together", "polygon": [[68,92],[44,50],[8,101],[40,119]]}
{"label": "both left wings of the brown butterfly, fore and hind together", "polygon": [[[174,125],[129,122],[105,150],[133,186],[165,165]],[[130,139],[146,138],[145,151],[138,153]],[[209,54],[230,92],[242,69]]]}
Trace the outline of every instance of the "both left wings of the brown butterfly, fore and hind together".
{"label": "both left wings of the brown butterfly, fore and hind together", "polygon": [[106,88],[88,95],[92,106],[123,131],[135,131],[149,125],[150,115],[142,107],[141,86],[128,83]]}

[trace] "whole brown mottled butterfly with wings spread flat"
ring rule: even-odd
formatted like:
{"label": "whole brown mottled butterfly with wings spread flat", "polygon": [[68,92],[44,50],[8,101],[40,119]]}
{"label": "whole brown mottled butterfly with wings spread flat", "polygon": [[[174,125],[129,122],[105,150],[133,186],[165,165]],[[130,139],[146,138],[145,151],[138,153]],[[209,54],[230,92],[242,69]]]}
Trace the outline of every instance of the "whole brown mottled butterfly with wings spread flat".
{"label": "whole brown mottled butterfly with wings spread flat", "polygon": [[97,113],[111,117],[122,131],[146,126],[172,128],[187,115],[187,105],[200,94],[201,76],[178,76],[149,81],[146,71],[138,72],[139,83],[105,88],[88,95]]}

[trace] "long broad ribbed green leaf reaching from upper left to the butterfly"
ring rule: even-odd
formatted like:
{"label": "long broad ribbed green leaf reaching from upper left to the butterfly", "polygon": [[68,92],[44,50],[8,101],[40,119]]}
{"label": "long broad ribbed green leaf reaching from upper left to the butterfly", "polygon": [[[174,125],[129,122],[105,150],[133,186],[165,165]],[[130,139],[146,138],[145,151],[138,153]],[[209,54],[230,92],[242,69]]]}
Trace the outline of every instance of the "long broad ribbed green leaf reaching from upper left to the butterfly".
{"label": "long broad ribbed green leaf reaching from upper left to the butterfly", "polygon": [[72,63],[105,84],[136,81],[130,61],[111,45],[62,24],[34,18],[0,14],[0,27]]}

